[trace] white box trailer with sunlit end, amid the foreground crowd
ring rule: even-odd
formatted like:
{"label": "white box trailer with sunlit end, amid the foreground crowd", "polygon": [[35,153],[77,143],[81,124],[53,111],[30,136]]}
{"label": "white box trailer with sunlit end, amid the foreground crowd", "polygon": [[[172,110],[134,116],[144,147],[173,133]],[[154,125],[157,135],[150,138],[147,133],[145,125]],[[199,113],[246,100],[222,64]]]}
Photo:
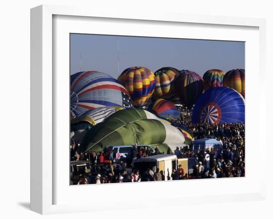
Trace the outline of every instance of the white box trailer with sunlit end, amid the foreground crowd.
{"label": "white box trailer with sunlit end, amid the foreground crowd", "polygon": [[171,174],[173,169],[177,169],[176,155],[154,155],[146,158],[139,158],[133,161],[135,169],[138,169],[140,175],[150,168],[153,172],[159,168],[162,181],[172,180]]}

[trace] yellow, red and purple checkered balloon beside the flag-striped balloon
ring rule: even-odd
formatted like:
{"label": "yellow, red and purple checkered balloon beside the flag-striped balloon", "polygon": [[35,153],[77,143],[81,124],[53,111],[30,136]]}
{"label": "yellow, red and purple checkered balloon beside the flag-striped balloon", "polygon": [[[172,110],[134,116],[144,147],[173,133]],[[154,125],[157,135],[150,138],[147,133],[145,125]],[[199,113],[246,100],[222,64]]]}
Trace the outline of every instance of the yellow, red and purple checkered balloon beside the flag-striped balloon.
{"label": "yellow, red and purple checkered balloon beside the flag-striped balloon", "polygon": [[135,107],[145,106],[155,88],[154,74],[145,67],[127,68],[118,80],[129,91]]}

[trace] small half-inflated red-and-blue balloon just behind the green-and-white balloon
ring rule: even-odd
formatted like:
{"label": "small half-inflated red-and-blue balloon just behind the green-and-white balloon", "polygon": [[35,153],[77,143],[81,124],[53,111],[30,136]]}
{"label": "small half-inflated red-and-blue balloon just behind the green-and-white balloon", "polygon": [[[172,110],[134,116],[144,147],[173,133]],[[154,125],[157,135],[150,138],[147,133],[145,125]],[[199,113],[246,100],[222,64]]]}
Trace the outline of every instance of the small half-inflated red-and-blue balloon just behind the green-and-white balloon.
{"label": "small half-inflated red-and-blue balloon just behind the green-and-white balloon", "polygon": [[148,108],[149,111],[164,118],[180,119],[180,111],[175,105],[164,99],[158,99]]}

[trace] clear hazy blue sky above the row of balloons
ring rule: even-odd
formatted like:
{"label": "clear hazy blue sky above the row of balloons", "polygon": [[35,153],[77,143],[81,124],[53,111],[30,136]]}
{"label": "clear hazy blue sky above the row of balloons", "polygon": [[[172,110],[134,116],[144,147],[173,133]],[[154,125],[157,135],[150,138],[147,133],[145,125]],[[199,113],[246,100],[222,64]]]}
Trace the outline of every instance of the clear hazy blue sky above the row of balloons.
{"label": "clear hazy blue sky above the row of balloons", "polygon": [[70,34],[70,74],[96,70],[117,78],[131,66],[147,67],[153,72],[171,66],[201,76],[211,68],[245,68],[245,43]]}

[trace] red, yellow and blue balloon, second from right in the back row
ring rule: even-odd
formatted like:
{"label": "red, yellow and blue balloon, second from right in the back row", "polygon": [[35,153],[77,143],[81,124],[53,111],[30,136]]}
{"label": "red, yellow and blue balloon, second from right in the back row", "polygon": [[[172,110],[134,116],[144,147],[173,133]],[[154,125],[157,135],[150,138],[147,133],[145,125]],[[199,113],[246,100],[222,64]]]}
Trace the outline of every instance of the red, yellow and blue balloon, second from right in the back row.
{"label": "red, yellow and blue balloon, second from right in the back row", "polygon": [[219,69],[210,69],[203,75],[204,90],[212,87],[222,87],[225,72]]}

